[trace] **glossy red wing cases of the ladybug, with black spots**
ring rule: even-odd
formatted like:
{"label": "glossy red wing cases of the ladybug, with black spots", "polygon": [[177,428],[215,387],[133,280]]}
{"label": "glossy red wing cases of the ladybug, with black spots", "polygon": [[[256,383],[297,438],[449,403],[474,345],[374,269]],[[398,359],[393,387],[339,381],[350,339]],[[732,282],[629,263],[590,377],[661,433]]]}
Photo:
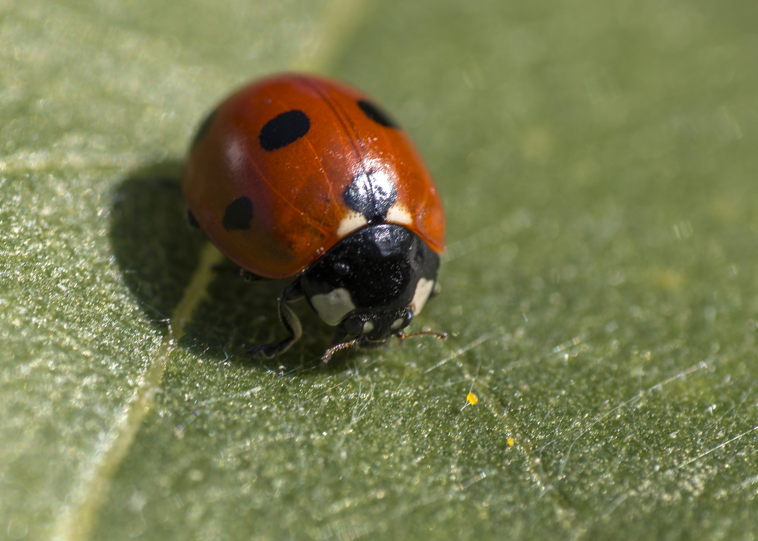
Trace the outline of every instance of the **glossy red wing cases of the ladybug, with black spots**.
{"label": "glossy red wing cases of the ladybug, with black spots", "polygon": [[[300,74],[231,95],[201,128],[184,175],[186,203],[205,234],[253,274],[292,277],[365,226],[343,193],[357,176],[380,174],[396,189],[384,221],[442,252],[445,217],[434,180],[406,133],[372,104],[342,83]],[[265,149],[262,129],[282,114],[302,119],[295,111],[307,117],[306,133]],[[229,218],[240,201],[242,223]]]}

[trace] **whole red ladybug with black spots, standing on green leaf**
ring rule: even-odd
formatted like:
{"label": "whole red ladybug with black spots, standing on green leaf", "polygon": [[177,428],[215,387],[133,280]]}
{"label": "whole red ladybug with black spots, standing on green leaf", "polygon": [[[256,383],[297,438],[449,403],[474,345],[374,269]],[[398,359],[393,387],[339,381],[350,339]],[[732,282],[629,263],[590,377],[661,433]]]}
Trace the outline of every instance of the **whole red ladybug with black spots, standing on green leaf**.
{"label": "whole red ladybug with black spots, standing on green leaf", "polygon": [[337,327],[324,361],[347,346],[405,334],[437,289],[445,215],[421,156],[368,96],[287,73],[230,95],[199,127],[183,177],[190,223],[250,279],[294,280],[279,299],[287,338],[302,336],[290,303],[305,297]]}

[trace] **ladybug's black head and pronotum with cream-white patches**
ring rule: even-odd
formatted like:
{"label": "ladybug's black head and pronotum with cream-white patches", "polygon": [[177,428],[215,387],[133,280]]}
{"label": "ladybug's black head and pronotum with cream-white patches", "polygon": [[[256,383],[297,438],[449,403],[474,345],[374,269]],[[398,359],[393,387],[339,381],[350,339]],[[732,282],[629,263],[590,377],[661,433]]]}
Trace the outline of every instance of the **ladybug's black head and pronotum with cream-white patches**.
{"label": "ladybug's black head and pronotum with cream-white patches", "polygon": [[424,308],[440,256],[396,224],[376,224],[346,236],[305,269],[300,283],[316,313],[337,327],[337,340],[378,346],[402,336]]}

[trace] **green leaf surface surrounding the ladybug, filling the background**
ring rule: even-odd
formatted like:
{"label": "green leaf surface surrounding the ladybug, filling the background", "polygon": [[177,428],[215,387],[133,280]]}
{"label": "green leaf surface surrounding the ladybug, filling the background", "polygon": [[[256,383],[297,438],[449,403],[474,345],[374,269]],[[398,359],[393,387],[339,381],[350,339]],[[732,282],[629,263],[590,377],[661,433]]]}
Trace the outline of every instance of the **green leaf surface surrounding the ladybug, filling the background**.
{"label": "green leaf surface surrounding the ladybug, filling the background", "polygon": [[[753,539],[758,4],[0,2],[0,537]],[[205,240],[205,112],[287,69],[393,112],[448,215],[456,333],[273,361],[219,269],[92,498]],[[441,363],[441,364],[440,364]],[[478,403],[467,402],[468,392]]]}

